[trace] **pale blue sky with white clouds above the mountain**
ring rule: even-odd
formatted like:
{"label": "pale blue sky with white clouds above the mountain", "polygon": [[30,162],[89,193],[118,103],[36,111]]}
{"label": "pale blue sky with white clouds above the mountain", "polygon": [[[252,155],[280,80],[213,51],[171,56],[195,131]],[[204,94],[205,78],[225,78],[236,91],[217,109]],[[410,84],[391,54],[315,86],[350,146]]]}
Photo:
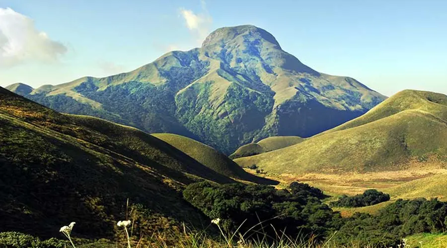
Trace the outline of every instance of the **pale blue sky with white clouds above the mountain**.
{"label": "pale blue sky with white clouds above the mountain", "polygon": [[0,0],[0,86],[136,69],[252,24],[313,69],[447,94],[445,0]]}

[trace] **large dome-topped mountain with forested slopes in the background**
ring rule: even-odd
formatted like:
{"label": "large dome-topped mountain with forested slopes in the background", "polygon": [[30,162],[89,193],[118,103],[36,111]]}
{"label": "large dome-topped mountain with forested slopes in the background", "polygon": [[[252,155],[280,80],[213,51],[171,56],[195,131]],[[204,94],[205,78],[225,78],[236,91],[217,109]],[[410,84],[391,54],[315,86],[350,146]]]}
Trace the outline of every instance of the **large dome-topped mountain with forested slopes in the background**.
{"label": "large dome-topped mountain with forested slopes in the background", "polygon": [[180,134],[225,154],[269,136],[312,136],[385,99],[353,78],[304,65],[251,25],[219,28],[200,48],[127,73],[7,88],[59,112]]}

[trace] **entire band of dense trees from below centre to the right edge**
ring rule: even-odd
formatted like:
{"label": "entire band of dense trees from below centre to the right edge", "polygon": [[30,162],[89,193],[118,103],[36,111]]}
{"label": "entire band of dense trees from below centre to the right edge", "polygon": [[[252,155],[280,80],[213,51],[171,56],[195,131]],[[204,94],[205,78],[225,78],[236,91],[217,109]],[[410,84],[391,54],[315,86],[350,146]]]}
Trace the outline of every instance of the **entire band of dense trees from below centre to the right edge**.
{"label": "entire band of dense trees from below centre to the right edge", "polygon": [[[291,237],[314,235],[320,240],[330,239],[336,246],[396,247],[407,236],[441,233],[447,227],[447,203],[438,199],[399,199],[375,215],[356,213],[341,218],[321,202],[325,195],[320,189],[300,183],[277,190],[271,186],[202,182],[188,186],[183,195],[208,217],[220,218],[221,227],[229,233],[242,223],[238,230],[241,234],[255,226],[250,230],[251,237],[258,232],[275,237],[278,230],[285,230]],[[389,197],[373,190],[363,195],[369,203]],[[262,225],[257,225],[260,222]]]}

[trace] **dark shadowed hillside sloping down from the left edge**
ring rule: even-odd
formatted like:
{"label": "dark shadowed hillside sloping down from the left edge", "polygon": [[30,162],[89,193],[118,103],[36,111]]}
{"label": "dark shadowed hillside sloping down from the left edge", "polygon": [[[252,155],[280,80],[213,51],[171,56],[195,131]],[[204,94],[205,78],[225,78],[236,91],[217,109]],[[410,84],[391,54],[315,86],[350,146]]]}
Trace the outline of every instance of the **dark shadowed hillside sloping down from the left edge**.
{"label": "dark shadowed hillside sloping down from the left edge", "polygon": [[[202,179],[232,183],[138,129],[57,113],[0,87],[0,232],[113,238],[126,201],[142,233],[208,225],[180,190]],[[156,199],[156,200],[154,200]]]}

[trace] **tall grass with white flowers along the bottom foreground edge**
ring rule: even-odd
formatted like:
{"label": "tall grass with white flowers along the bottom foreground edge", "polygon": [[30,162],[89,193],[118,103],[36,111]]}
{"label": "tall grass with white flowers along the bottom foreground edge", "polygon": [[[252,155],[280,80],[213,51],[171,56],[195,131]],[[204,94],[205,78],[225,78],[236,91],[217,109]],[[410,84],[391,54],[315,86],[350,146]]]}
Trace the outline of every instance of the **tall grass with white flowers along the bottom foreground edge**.
{"label": "tall grass with white flowers along the bottom foreground edge", "polygon": [[[102,248],[102,247],[113,247],[113,248],[380,248],[381,246],[369,245],[369,246],[358,246],[356,244],[346,244],[343,246],[335,245],[331,242],[331,238],[326,242],[317,242],[316,237],[305,238],[304,236],[289,237],[284,234],[284,232],[276,232],[276,237],[270,237],[266,233],[262,232],[262,227],[260,231],[255,231],[257,236],[247,235],[248,232],[242,234],[238,230],[234,233],[225,233],[220,226],[220,219],[212,220],[212,224],[215,224],[220,230],[220,236],[213,237],[207,230],[193,230],[188,228],[183,224],[183,230],[178,232],[158,232],[147,237],[140,237],[139,240],[133,239],[129,235],[127,227],[130,226],[132,222],[130,220],[119,221],[118,226],[123,228],[126,234],[125,240],[121,242],[110,242],[109,244],[99,244],[90,243],[82,244],[76,246],[77,248]],[[262,226],[262,222],[250,228],[251,231],[255,230],[258,226]],[[274,228],[272,226],[272,228]],[[62,229],[61,229],[62,230]],[[62,231],[61,231],[62,232]],[[64,233],[65,235],[65,233]],[[72,239],[65,235],[69,240],[71,245],[75,248]],[[421,244],[422,245],[422,244]],[[405,245],[399,245],[396,248],[409,248]]]}

